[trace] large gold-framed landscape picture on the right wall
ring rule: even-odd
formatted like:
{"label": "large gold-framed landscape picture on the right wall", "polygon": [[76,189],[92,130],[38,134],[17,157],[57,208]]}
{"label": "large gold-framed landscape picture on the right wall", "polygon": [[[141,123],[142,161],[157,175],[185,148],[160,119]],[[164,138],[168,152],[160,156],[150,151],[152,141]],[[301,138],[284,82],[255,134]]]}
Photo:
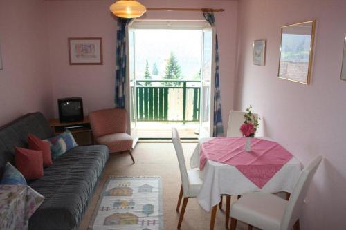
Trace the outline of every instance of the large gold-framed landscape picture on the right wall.
{"label": "large gold-framed landscape picture on the right wall", "polygon": [[309,84],[315,23],[315,21],[307,21],[282,26],[277,77],[292,82]]}

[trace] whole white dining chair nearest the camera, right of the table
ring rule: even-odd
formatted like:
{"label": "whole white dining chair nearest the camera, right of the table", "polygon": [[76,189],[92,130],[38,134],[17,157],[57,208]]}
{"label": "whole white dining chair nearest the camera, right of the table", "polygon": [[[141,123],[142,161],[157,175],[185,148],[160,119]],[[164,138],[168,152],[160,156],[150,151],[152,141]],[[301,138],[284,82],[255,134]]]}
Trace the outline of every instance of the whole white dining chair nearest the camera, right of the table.
{"label": "whole white dining chair nearest the camera, right of the table", "polygon": [[321,155],[314,157],[300,172],[288,201],[271,193],[253,192],[242,195],[242,198],[230,209],[230,229],[235,230],[237,220],[246,222],[248,229],[252,227],[264,230],[299,229],[304,198],[321,160]]}

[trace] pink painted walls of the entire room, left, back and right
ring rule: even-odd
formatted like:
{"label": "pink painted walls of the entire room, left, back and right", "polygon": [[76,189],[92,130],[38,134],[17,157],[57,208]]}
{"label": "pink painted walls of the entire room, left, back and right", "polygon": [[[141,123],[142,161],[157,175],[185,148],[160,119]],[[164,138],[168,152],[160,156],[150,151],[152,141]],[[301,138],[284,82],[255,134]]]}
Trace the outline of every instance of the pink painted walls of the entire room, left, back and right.
{"label": "pink painted walls of the entire room, left, back and right", "polygon": [[[265,135],[280,142],[303,164],[314,155],[325,155],[309,190],[302,229],[345,227],[346,82],[340,81],[340,69],[346,2],[142,2],[147,7],[226,9],[215,15],[225,126],[231,108],[244,110],[251,104],[263,117]],[[111,0],[31,0],[30,3],[0,0],[4,66],[0,70],[0,125],[33,111],[43,111],[51,117],[54,110],[56,116],[56,99],[60,97],[83,97],[86,113],[113,107],[116,21],[109,12],[111,3]],[[143,19],[203,18],[194,12],[148,12]],[[317,20],[311,84],[304,86],[277,79],[280,26],[309,19]],[[70,66],[68,37],[102,37],[104,65]],[[254,39],[267,40],[264,67],[252,64]]]}

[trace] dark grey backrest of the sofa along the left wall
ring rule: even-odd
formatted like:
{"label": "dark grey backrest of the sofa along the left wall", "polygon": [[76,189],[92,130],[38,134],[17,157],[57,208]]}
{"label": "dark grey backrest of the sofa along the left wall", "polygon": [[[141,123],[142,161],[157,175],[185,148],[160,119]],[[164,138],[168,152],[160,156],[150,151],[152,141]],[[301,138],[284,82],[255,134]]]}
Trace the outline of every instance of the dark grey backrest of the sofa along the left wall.
{"label": "dark grey backrest of the sofa along the left wall", "polygon": [[42,113],[28,113],[0,127],[0,178],[3,166],[7,162],[13,164],[15,147],[27,148],[28,133],[33,133],[42,140],[51,137],[51,127]]}

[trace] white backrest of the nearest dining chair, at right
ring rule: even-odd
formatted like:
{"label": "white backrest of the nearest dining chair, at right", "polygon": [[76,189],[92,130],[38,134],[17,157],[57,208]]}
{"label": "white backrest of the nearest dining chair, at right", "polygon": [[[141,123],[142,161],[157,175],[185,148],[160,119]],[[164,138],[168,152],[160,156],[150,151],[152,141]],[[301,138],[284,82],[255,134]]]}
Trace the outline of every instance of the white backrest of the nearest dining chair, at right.
{"label": "white backrest of the nearest dining chair, at right", "polygon": [[321,155],[314,157],[313,160],[311,160],[300,172],[298,181],[295,183],[293,192],[289,198],[289,203],[284,212],[284,218],[282,219],[280,230],[292,229],[295,222],[299,219],[304,198],[307,195],[313,175],[316,173],[322,158]]}

